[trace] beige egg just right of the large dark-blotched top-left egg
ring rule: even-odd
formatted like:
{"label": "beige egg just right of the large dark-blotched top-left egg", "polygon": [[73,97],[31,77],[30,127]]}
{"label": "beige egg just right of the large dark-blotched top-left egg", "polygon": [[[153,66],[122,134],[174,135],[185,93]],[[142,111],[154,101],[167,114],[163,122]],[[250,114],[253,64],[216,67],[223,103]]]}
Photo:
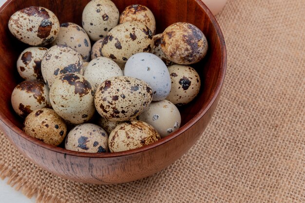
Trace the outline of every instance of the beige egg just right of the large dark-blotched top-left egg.
{"label": "beige egg just right of the large dark-blotched top-left egg", "polygon": [[59,33],[52,45],[64,44],[75,49],[83,58],[89,61],[91,42],[82,27],[72,22],[60,24]]}

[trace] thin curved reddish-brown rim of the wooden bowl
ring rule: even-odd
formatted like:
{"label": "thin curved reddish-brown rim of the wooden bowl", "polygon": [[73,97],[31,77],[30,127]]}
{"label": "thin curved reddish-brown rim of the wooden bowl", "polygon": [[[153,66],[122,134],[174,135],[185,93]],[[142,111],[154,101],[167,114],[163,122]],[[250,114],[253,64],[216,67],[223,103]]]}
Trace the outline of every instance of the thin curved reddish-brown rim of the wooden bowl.
{"label": "thin curved reddish-brown rim of the wooden bowl", "polygon": [[[0,13],[11,3],[13,0],[8,0],[6,1],[1,7],[0,7]],[[28,140],[29,142],[33,143],[34,145],[38,145],[41,148],[45,148],[47,150],[54,151],[56,153],[63,154],[64,156],[69,155],[69,156],[77,156],[77,157],[87,157],[87,158],[114,158],[114,157],[121,157],[121,156],[129,156],[133,155],[136,153],[141,153],[147,150],[150,150],[152,148],[158,147],[160,145],[163,145],[166,142],[169,142],[170,140],[178,137],[181,135],[183,132],[185,132],[187,129],[191,128],[197,121],[199,121],[204,114],[209,111],[210,107],[213,105],[213,103],[216,101],[216,98],[218,97],[218,94],[221,92],[221,88],[224,83],[225,79],[225,74],[227,70],[227,49],[226,49],[226,44],[225,44],[225,39],[222,34],[222,31],[220,29],[220,26],[214,17],[214,15],[211,13],[210,9],[203,3],[202,0],[195,0],[199,6],[207,13],[209,16],[211,22],[215,26],[216,33],[219,37],[220,42],[222,43],[223,46],[221,46],[221,71],[220,74],[218,75],[218,80],[216,83],[216,86],[213,89],[213,92],[206,102],[206,104],[198,111],[191,120],[189,120],[186,124],[184,124],[181,128],[176,130],[175,132],[171,133],[169,136],[162,138],[150,145],[143,146],[141,148],[135,148],[127,151],[120,151],[120,152],[108,152],[108,153],[87,153],[87,152],[79,152],[79,151],[71,151],[68,149],[64,148],[59,148],[55,146],[51,146],[48,144],[43,143],[42,141],[39,141],[27,134],[25,134],[24,131],[16,127],[8,118],[0,112],[0,120],[1,122],[8,127],[9,129],[13,130],[16,134],[21,136],[22,138]],[[3,129],[4,130],[4,129]]]}

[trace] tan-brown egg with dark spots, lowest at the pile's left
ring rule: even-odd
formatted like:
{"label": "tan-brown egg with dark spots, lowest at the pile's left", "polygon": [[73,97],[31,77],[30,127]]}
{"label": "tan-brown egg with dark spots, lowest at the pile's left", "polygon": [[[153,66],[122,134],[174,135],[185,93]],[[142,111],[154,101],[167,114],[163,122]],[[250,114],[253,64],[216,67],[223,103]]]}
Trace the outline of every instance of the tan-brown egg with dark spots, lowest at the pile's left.
{"label": "tan-brown egg with dark spots, lowest at the pile's left", "polygon": [[46,144],[58,146],[67,134],[67,127],[54,110],[38,109],[25,118],[24,132]]}

